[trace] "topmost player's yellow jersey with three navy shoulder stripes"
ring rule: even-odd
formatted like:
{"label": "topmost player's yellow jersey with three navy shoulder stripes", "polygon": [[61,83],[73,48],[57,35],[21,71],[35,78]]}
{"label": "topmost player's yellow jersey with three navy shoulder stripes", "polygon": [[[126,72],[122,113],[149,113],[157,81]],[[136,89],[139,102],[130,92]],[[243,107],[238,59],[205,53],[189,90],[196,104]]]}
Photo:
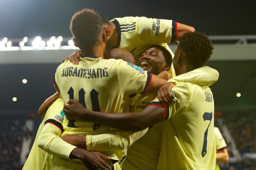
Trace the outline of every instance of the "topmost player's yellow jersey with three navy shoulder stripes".
{"label": "topmost player's yellow jersey with three navy shoulder stripes", "polygon": [[[174,42],[177,34],[177,23],[173,20],[124,17],[111,20],[116,25],[118,34],[114,48],[124,48],[132,53],[138,64],[139,58],[149,46],[157,44],[166,48],[174,56],[167,43]],[[175,77],[173,66],[169,70]]]}

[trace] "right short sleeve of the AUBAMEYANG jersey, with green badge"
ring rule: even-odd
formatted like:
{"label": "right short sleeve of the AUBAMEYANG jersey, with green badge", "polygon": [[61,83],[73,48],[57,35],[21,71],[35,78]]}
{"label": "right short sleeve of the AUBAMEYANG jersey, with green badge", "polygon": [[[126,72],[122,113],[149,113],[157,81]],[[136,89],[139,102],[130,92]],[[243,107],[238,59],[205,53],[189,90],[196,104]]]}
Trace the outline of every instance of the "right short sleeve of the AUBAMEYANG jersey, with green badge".
{"label": "right short sleeve of the AUBAMEYANG jersey, with green badge", "polygon": [[151,73],[123,60],[120,60],[116,69],[119,87],[123,94],[144,94],[148,91]]}

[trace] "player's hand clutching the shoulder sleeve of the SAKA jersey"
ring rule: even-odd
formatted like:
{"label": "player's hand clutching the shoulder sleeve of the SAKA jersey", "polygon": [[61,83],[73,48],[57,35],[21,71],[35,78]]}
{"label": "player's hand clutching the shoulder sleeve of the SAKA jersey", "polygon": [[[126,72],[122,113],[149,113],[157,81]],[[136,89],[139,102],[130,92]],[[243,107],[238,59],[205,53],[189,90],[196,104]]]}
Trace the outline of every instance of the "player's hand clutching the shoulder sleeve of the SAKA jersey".
{"label": "player's hand clutching the shoulder sleeve of the SAKA jersey", "polygon": [[172,95],[170,93],[174,83],[167,82],[159,88],[157,92],[157,98],[161,104],[168,104],[172,102]]}

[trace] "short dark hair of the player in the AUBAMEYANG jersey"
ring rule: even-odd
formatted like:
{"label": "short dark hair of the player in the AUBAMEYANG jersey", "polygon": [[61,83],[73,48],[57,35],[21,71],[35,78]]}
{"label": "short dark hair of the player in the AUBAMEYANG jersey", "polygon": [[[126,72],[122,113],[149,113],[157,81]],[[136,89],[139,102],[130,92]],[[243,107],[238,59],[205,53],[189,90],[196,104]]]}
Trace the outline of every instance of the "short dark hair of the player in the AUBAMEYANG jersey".
{"label": "short dark hair of the player in the AUBAMEYANG jersey", "polygon": [[92,9],[76,12],[70,21],[70,31],[79,48],[90,50],[100,39],[100,32],[109,21]]}

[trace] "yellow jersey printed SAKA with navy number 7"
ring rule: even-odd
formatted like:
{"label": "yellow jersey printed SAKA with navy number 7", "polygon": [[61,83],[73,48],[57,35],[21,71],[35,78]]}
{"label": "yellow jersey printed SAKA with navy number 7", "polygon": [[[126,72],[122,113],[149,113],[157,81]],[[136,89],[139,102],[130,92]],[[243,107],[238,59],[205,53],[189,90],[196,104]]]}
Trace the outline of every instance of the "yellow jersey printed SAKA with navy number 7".
{"label": "yellow jersey printed SAKA with navy number 7", "polygon": [[157,169],[215,169],[214,102],[211,89],[180,82],[171,94],[172,103],[158,99],[149,105],[165,107],[162,148]]}

